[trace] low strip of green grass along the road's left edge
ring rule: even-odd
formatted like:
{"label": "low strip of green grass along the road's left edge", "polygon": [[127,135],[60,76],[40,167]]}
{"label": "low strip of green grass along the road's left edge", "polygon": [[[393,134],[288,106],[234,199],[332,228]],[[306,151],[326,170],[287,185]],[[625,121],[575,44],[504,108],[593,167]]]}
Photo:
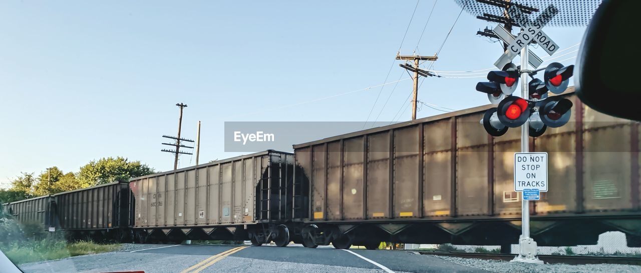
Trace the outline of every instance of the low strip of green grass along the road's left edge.
{"label": "low strip of green grass along the road's left edge", "polygon": [[119,244],[96,244],[94,242],[73,242],[67,244],[63,240],[37,240],[12,244],[3,247],[2,251],[13,263],[29,263],[114,251]]}

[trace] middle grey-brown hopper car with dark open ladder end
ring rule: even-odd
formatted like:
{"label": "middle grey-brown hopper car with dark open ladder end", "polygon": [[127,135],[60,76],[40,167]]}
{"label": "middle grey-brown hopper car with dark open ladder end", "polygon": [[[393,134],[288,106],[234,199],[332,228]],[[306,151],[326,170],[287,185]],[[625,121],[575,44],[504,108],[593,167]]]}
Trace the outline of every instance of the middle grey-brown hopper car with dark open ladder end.
{"label": "middle grey-brown hopper car with dark open ladder end", "polygon": [[131,180],[140,242],[292,240],[292,153],[253,153]]}

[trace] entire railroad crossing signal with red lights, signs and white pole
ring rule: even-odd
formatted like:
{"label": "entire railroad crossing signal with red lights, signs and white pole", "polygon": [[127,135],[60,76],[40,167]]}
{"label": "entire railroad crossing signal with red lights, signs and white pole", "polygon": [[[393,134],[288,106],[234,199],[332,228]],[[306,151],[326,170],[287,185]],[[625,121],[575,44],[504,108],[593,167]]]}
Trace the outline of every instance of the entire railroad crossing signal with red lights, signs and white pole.
{"label": "entire railroad crossing signal with red lights, signs and white pole", "polygon": [[[481,2],[480,0],[477,1]],[[506,3],[509,4],[510,2],[506,1]],[[508,7],[507,4],[506,7]],[[556,45],[549,36],[545,35],[542,28],[554,15],[559,13],[559,10],[553,5],[549,5],[534,21],[529,20],[526,15],[520,12],[515,4],[508,8],[506,13],[510,15],[509,17],[506,16],[506,22],[510,22],[511,24],[513,21],[519,24],[523,31],[521,31],[516,38],[512,36],[510,31],[502,29],[501,27],[497,27],[495,31],[493,31],[497,37],[508,43],[503,55],[494,63],[497,68],[503,71],[490,72],[488,79],[492,82],[479,82],[476,85],[476,90],[488,93],[488,98],[490,98],[490,102],[492,103],[495,103],[497,100],[501,101],[498,107],[488,109],[488,111],[485,112],[481,123],[483,123],[483,127],[488,134],[492,136],[501,136],[505,134],[510,127],[521,127],[520,148],[523,157],[517,157],[515,154],[515,191],[519,191],[519,187],[521,187],[521,189],[527,189],[528,191],[536,191],[537,189],[541,191],[540,188],[545,187],[544,191],[547,191],[547,171],[545,171],[545,180],[540,180],[540,178],[536,177],[540,176],[537,174],[537,171],[539,170],[538,167],[541,166],[537,160],[542,157],[536,157],[531,153],[527,153],[529,150],[528,135],[532,137],[541,136],[547,127],[560,127],[569,121],[572,102],[566,98],[547,98],[547,91],[552,91],[555,94],[563,93],[565,88],[567,88],[567,80],[569,77],[572,77],[574,66],[565,67],[561,64],[553,63],[545,68],[544,81],[535,80],[528,82],[528,84],[522,82],[522,88],[520,90],[521,98],[510,96],[514,90],[510,89],[512,86],[509,86],[509,84],[516,82],[516,79],[514,82],[512,81],[511,71],[507,71],[506,65],[512,63],[512,59],[520,53],[521,67],[515,69],[515,75],[522,77],[522,81],[527,81],[528,75],[534,75],[537,71],[542,70],[529,70],[528,64],[532,62],[530,59],[535,59],[533,60],[533,66],[535,66],[535,68],[540,65],[541,62],[537,56],[530,58],[533,54],[529,52],[528,44],[530,42],[538,43],[547,54],[554,54],[558,49],[558,45]],[[490,15],[485,16],[490,17]],[[501,77],[503,77],[503,79],[501,79]],[[499,93],[497,90],[501,92]],[[506,95],[509,97],[500,98]],[[521,170],[528,170],[527,167],[529,166],[537,166],[537,169],[525,173],[525,177],[519,179],[517,175],[517,170],[519,169],[517,168],[517,162],[527,163],[528,159],[525,158],[528,156],[534,159],[530,161],[537,164],[521,164],[522,167],[526,168],[521,168]],[[547,154],[545,155],[545,162],[547,167]],[[521,203],[522,233],[519,238],[520,250],[519,255],[515,257],[513,261],[542,264],[543,262],[537,258],[537,242],[529,237],[528,199],[538,199],[538,194],[536,194],[536,196],[533,194],[531,198],[525,197],[526,196],[523,196]]]}

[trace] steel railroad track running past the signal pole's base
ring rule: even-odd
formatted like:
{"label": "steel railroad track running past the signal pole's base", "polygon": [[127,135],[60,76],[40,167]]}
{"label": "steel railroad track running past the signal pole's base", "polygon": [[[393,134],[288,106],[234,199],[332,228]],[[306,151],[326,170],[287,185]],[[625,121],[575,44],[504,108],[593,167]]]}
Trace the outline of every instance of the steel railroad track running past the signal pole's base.
{"label": "steel railroad track running past the signal pole's base", "polygon": [[[424,255],[451,256],[459,258],[474,258],[483,260],[510,261],[516,254],[504,253],[465,253],[442,251],[418,251]],[[565,263],[569,265],[583,265],[588,263],[615,263],[620,265],[641,265],[641,257],[629,256],[579,256],[579,255],[537,255],[545,263]]]}

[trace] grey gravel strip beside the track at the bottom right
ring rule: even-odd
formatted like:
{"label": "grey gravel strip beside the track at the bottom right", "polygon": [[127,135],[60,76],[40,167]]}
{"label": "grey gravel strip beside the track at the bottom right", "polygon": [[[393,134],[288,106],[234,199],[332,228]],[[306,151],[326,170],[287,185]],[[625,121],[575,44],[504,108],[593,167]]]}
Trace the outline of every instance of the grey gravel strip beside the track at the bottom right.
{"label": "grey gravel strip beside the track at the bottom right", "polygon": [[481,260],[458,258],[448,256],[435,256],[446,261],[474,267],[477,269],[488,270],[490,272],[545,272],[545,273],[566,273],[566,272],[641,272],[639,265],[566,265],[563,263],[554,263],[545,265],[535,265],[531,263],[518,263],[510,261]]}

